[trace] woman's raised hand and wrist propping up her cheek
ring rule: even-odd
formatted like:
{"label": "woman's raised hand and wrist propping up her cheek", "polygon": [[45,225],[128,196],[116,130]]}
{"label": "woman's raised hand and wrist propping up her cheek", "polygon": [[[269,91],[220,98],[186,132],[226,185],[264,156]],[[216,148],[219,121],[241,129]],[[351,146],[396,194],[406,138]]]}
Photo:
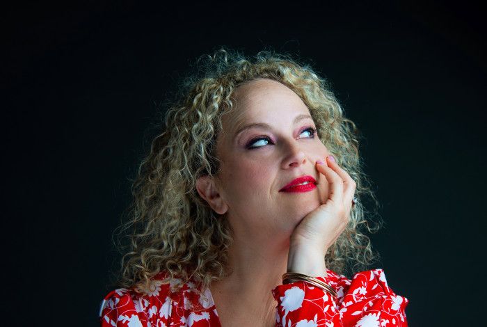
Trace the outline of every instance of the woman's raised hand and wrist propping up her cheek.
{"label": "woman's raised hand and wrist propping up her cheek", "polygon": [[326,250],[349,222],[356,182],[330,156],[326,163],[318,161],[316,167],[328,181],[328,199],[296,226],[290,239],[287,271],[323,277]]}

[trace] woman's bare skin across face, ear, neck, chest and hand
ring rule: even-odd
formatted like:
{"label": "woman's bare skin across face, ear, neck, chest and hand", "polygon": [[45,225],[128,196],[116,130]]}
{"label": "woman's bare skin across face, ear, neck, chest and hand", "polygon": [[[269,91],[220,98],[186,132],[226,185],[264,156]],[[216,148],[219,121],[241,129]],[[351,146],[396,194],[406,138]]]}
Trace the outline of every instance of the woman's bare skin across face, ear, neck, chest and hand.
{"label": "woman's bare skin across face, ear, neck, chest and hand", "polygon": [[[200,196],[226,214],[234,232],[232,273],[210,290],[223,326],[274,326],[270,290],[286,271],[325,276],[326,249],[346,226],[356,184],[326,159],[330,152],[310,129],[316,126],[308,107],[291,89],[257,79],[233,97],[234,111],[223,116],[217,138],[221,170],[197,182]],[[253,123],[269,126],[237,133]],[[280,191],[303,175],[314,177],[317,188]]]}

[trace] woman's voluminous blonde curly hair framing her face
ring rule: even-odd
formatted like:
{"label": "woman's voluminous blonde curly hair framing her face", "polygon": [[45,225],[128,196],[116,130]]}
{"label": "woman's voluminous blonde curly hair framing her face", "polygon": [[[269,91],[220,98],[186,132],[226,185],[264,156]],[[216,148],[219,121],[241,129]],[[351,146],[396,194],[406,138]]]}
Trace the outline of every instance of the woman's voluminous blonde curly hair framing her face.
{"label": "woman's voluminous blonde curly hair framing her face", "polygon": [[163,272],[168,278],[193,278],[206,288],[227,273],[230,225],[200,198],[195,182],[218,172],[215,147],[221,116],[232,110],[235,88],[254,79],[272,79],[293,90],[308,106],[321,141],[356,181],[360,200],[351,210],[346,230],[328,249],[326,266],[337,273],[351,273],[365,269],[377,257],[364,234],[374,232],[379,224],[365,218],[372,212],[365,211],[363,200],[368,197],[376,206],[378,202],[362,172],[360,134],[344,118],[326,81],[289,55],[262,51],[248,58],[219,49],[213,56],[200,58],[193,75],[184,80],[138,168],[132,185],[134,201],[127,222],[120,226],[120,234],[129,240],[118,244],[123,255],[120,287],[143,292]]}

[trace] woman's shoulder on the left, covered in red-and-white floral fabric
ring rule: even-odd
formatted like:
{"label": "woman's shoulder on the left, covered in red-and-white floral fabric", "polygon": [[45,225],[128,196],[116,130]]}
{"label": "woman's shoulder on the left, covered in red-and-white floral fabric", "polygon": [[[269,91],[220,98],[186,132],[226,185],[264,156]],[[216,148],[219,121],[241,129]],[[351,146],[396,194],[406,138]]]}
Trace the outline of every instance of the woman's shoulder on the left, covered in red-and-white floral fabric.
{"label": "woman's shoulder on the left, covered in red-and-white floral fabric", "polygon": [[[120,288],[106,294],[99,309],[102,326],[120,326],[134,323],[134,326],[160,326],[167,324],[175,312],[201,312],[214,305],[207,292],[200,292],[194,282],[179,278],[168,278],[158,274],[150,285],[141,292]],[[190,312],[189,312],[190,311]],[[178,318],[178,320],[180,320]],[[140,322],[141,325],[138,325]]]}

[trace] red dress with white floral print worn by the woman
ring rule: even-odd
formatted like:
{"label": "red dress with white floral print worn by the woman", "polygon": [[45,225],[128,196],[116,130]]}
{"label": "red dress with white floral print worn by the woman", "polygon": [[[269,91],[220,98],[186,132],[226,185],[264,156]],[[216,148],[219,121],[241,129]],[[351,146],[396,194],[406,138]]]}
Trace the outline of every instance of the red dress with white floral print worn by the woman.
{"label": "red dress with white floral print worn by the woman", "polygon": [[[382,269],[356,273],[351,280],[327,269],[323,280],[337,291],[337,299],[305,282],[279,285],[276,326],[408,326],[404,312],[408,299],[394,294]],[[115,289],[105,296],[100,320],[105,326],[221,326],[209,289],[196,292],[195,284],[173,279],[163,284],[162,274],[152,280],[152,291],[136,294]]]}

